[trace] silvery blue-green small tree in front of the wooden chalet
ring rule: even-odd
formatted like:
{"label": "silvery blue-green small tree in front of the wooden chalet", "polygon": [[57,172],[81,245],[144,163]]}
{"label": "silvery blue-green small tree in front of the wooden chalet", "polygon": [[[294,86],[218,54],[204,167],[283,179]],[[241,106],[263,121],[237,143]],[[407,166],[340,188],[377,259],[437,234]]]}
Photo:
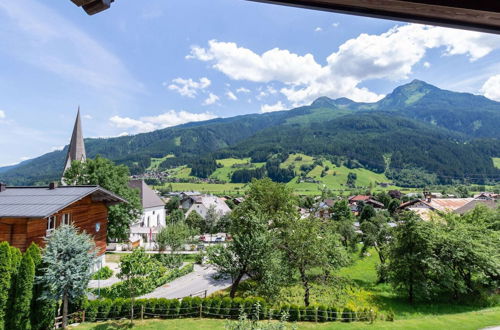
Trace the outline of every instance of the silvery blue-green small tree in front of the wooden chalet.
{"label": "silvery blue-green small tree in front of the wooden chalet", "polygon": [[63,302],[63,328],[68,323],[68,303],[85,294],[95,263],[95,244],[90,235],[62,225],[47,239],[40,281],[46,290],[42,299]]}

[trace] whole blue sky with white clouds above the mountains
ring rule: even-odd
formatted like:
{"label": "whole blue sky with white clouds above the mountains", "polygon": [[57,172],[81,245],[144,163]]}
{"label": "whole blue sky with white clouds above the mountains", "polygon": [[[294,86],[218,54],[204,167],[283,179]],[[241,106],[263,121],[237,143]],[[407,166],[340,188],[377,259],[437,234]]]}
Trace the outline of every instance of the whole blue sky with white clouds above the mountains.
{"label": "whole blue sky with white clouds above the mountains", "polygon": [[86,137],[377,101],[421,79],[500,101],[500,36],[244,0],[0,0],[0,165]]}

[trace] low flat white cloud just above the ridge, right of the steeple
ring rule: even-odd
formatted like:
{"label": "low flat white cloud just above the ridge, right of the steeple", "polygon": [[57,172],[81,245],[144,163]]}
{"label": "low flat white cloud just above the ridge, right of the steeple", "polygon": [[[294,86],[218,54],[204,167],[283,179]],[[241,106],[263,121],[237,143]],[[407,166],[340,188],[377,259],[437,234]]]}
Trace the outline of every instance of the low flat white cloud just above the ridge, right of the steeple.
{"label": "low flat white cloud just above the ridge, right of the steeple", "polygon": [[[189,122],[209,120],[216,117],[217,116],[213,115],[210,112],[192,113],[184,110],[169,110],[158,116],[145,116],[139,119],[113,116],[109,118],[109,120],[115,127],[131,129],[135,133],[144,133]],[[124,136],[127,134],[127,132],[123,132],[119,136]]]}

